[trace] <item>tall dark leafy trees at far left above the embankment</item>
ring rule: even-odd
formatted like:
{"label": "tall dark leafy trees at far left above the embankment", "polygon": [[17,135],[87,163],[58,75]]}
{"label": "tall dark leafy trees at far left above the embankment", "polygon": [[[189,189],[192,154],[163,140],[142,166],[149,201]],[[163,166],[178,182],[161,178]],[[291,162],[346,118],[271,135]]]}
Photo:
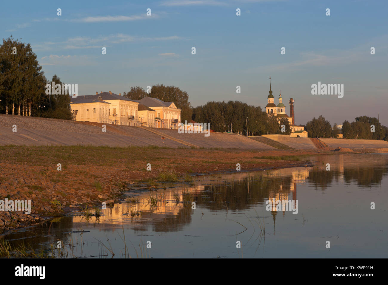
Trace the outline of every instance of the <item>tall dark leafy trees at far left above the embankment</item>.
{"label": "tall dark leafy trees at far left above the embankment", "polygon": [[31,45],[14,40],[12,35],[0,45],[0,112],[21,116],[73,119],[68,95],[46,95],[45,77]]}

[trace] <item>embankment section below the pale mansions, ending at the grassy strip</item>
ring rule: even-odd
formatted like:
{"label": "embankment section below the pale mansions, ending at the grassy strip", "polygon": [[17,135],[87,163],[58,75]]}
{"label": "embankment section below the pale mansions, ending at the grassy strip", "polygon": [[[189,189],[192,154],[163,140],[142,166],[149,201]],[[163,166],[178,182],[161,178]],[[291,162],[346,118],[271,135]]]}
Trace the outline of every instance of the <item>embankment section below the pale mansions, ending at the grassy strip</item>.
{"label": "embankment section below the pale mansions, ending at the grassy strip", "polygon": [[[13,131],[16,125],[16,132]],[[235,148],[275,149],[264,143],[235,134],[210,136],[179,134],[177,130],[78,122],[39,117],[0,114],[0,145],[94,145],[111,147]],[[147,130],[148,129],[148,130]],[[165,139],[161,137],[164,136]]]}

